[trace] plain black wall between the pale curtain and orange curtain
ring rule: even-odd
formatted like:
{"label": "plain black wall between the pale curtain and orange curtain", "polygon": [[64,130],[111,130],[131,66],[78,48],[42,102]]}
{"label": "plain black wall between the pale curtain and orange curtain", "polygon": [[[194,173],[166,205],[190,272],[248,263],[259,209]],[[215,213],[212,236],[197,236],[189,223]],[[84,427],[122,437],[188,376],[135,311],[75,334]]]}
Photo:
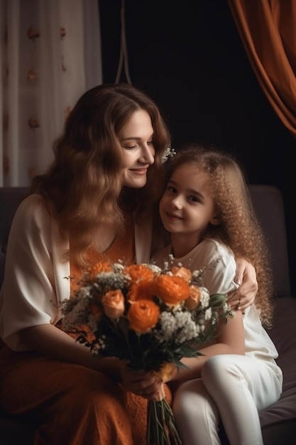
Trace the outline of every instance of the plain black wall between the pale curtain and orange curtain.
{"label": "plain black wall between the pale curtain and orange curtain", "polygon": [[[121,0],[99,0],[99,11],[103,80],[115,82]],[[126,0],[125,26],[131,82],[158,103],[172,146],[219,146],[236,155],[250,183],[282,191],[295,294],[296,139],[261,90],[227,1]]]}

